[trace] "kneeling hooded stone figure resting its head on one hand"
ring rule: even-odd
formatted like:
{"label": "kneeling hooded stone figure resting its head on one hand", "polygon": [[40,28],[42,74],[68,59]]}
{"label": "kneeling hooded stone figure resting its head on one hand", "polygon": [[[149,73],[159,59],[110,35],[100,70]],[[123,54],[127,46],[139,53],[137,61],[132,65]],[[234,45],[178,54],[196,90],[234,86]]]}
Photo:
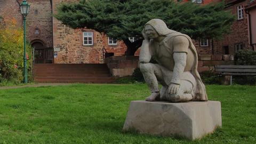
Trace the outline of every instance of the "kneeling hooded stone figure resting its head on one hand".
{"label": "kneeling hooded stone figure resting its head on one hand", "polygon": [[[148,21],[142,34],[139,67],[151,91],[146,101],[207,101],[191,38],[167,28],[160,19]],[[158,64],[149,62],[152,57]],[[158,82],[163,86],[160,91]]]}

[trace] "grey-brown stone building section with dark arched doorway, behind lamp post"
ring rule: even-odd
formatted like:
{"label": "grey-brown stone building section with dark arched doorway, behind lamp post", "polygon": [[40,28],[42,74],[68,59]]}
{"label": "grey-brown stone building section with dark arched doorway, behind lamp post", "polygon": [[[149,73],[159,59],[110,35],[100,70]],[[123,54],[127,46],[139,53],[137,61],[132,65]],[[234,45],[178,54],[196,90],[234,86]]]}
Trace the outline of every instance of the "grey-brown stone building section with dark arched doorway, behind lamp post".
{"label": "grey-brown stone building section with dark arched doorway, behind lamp post", "polygon": [[[19,5],[22,0],[0,0],[0,15],[4,19],[15,19],[22,27]],[[30,11],[26,20],[27,39],[35,47],[37,63],[52,62],[52,6],[51,1],[28,1]]]}

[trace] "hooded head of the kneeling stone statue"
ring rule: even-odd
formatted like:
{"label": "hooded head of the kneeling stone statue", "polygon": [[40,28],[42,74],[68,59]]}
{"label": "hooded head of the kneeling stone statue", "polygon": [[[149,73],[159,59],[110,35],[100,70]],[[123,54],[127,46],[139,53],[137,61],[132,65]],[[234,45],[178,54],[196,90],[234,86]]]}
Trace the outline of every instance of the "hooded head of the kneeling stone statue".
{"label": "hooded head of the kneeling stone statue", "polygon": [[165,22],[161,19],[151,19],[146,23],[143,29],[143,33],[145,33],[150,39],[158,36],[166,36],[173,32],[175,31],[167,28]]}

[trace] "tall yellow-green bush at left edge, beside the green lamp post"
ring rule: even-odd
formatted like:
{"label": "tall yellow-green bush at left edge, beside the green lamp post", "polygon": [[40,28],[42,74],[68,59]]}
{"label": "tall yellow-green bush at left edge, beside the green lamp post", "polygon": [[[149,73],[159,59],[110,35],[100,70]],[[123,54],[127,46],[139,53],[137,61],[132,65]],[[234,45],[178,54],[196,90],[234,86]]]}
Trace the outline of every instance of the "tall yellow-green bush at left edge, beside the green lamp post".
{"label": "tall yellow-green bush at left edge, beside the green lamp post", "polygon": [[[4,24],[0,27],[0,83],[7,81],[18,84],[23,80],[23,30],[17,28],[15,20],[4,21]],[[31,58],[29,44],[26,53]],[[31,74],[30,59],[27,68],[28,73]]]}

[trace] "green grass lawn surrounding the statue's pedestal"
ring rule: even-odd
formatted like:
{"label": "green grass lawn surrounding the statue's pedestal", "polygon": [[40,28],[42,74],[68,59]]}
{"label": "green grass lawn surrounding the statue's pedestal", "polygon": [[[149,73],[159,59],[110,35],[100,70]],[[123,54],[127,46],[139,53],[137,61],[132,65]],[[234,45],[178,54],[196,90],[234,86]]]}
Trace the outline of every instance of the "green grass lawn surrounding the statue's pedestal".
{"label": "green grass lawn surrounding the statue's pedestal", "polygon": [[0,143],[255,143],[256,86],[206,86],[221,101],[222,129],[188,141],[123,133],[131,100],[145,84],[27,87],[0,90]]}

